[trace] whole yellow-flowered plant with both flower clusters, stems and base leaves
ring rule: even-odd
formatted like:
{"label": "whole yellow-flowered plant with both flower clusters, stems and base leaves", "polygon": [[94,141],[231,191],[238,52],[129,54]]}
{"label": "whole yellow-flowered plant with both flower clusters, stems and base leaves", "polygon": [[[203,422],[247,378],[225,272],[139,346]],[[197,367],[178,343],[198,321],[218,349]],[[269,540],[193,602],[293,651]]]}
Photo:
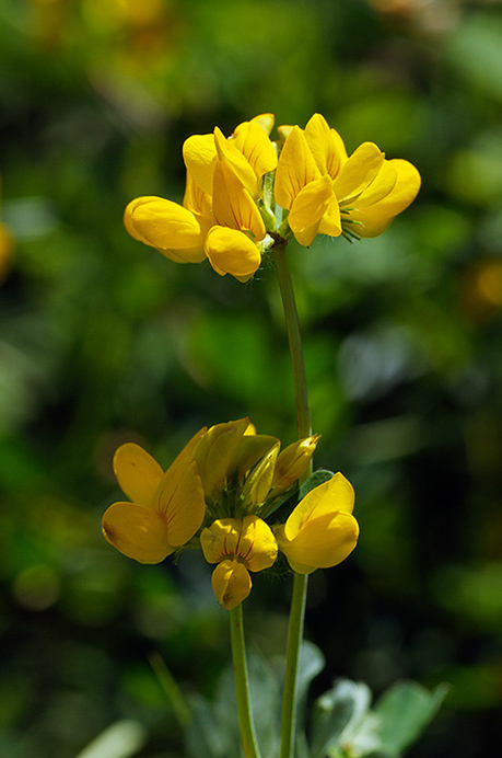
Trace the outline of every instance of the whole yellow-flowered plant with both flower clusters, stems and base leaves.
{"label": "whole yellow-flowered plant with both flower clusters, stems and base leaves", "polygon": [[[352,241],[382,233],[415,199],[420,174],[406,160],[387,160],[373,142],[349,156],[320,114],[305,128],[279,127],[276,140],[272,127],[273,116],[261,114],[229,138],[218,127],[189,137],[183,146],[183,204],[138,197],[126,208],[125,226],[171,261],[208,260],[220,276],[243,283],[264,256],[272,262],[291,355],[297,440],[281,449],[277,437],[258,434],[247,416],[217,423],[197,432],[165,471],[141,447],[126,444],[115,453],[114,469],[128,499],[106,510],[103,533],[140,563],[199,547],[213,566],[212,589],[230,618],[240,738],[236,744],[226,705],[206,704],[201,717],[199,702],[184,719],[189,755],[396,758],[432,719],[444,689],[430,693],[400,682],[372,707],[365,685],[338,680],[314,702],[305,731],[306,690],[323,667],[322,653],[303,642],[308,575],[347,559],[359,525],[346,476],[313,470],[319,436],[311,427],[287,246],[290,241],[310,246],[317,234]],[[280,685],[266,662],[248,659],[243,629],[243,602],[255,575],[278,570],[293,575]],[[229,697],[224,684],[219,697]]]}

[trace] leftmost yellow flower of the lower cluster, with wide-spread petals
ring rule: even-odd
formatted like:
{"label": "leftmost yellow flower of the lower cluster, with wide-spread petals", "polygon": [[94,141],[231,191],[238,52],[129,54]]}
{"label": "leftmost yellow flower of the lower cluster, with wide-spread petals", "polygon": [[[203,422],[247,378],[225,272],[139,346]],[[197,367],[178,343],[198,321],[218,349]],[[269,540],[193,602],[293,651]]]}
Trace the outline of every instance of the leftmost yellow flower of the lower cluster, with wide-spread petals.
{"label": "leftmost yellow flower of the lower cluster, with wide-spread petals", "polygon": [[202,525],[206,504],[192,451],[198,432],[164,473],[139,445],[118,448],[114,470],[131,503],[114,503],[103,516],[105,539],[140,563],[160,563]]}

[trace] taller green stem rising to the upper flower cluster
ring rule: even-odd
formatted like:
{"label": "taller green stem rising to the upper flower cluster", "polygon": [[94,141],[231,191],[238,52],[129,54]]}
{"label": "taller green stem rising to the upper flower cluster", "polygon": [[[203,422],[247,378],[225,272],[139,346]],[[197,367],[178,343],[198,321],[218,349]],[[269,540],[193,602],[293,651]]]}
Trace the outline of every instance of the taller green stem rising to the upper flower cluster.
{"label": "taller green stem rising to the upper flower cluster", "polygon": [[[300,321],[296,310],[296,301],[294,298],[293,284],[291,282],[288,261],[285,257],[285,242],[282,241],[277,243],[273,252],[288,330],[291,366],[293,369],[299,437],[308,437],[312,434],[312,429],[305,365],[303,360],[302,336],[300,333]],[[311,472],[312,464],[310,471],[305,473],[304,478],[306,479]],[[288,628],[288,645],[285,652],[280,758],[293,758],[294,755],[294,738],[296,734],[297,673],[300,665],[300,650],[303,639],[307,578],[307,575],[294,574],[293,596],[291,599],[290,621]]]}

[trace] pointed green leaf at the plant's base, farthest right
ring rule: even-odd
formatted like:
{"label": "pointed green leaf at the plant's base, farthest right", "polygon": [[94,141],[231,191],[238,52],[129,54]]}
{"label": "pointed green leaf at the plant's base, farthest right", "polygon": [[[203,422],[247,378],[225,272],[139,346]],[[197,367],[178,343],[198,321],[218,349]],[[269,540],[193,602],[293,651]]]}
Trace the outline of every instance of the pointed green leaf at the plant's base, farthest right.
{"label": "pointed green leaf at the plant's base, farthest right", "polygon": [[446,685],[429,692],[416,681],[401,681],[384,692],[374,711],[382,720],[385,748],[399,754],[411,745],[435,716],[447,691]]}

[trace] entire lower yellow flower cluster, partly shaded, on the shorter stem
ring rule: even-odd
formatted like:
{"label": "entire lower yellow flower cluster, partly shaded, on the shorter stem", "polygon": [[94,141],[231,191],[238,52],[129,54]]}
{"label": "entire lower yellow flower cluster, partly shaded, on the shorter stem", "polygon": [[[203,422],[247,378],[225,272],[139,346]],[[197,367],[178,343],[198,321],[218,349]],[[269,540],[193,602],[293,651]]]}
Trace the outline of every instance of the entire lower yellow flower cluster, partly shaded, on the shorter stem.
{"label": "entire lower yellow flower cluster, partly shaded, on the shorter stem", "polygon": [[229,610],[248,596],[249,572],[272,566],[279,551],[297,573],[334,566],[359,536],[353,490],[342,474],[312,490],[285,524],[266,520],[306,471],[317,439],[281,451],[279,439],[241,418],[200,429],[165,472],[138,445],[122,445],[114,470],[130,502],[109,506],[103,533],[141,563],[159,563],[198,536],[206,560],[217,564],[217,599]]}

